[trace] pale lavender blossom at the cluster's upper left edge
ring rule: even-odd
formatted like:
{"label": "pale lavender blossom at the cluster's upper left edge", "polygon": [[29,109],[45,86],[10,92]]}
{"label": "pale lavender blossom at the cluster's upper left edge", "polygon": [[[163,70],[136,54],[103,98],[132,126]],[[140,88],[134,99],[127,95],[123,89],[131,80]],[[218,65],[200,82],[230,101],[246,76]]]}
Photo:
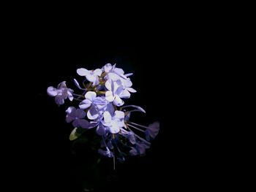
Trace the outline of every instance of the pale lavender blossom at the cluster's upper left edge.
{"label": "pale lavender blossom at the cluster's upper left edge", "polygon": [[102,69],[95,69],[94,71],[87,70],[84,68],[80,68],[77,70],[77,73],[80,76],[85,76],[89,82],[92,82],[93,85],[98,85],[99,84],[99,76],[102,74]]}

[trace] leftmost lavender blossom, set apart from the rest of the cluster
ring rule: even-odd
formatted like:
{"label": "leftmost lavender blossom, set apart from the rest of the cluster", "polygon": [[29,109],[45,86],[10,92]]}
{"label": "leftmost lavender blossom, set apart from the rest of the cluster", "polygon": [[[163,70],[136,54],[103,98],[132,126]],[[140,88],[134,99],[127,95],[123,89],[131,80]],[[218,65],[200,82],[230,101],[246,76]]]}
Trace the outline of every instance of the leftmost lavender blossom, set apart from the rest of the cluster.
{"label": "leftmost lavender blossom, set apart from the rest of the cluster", "polygon": [[59,83],[57,88],[53,88],[52,86],[47,88],[47,93],[49,96],[55,96],[56,104],[64,104],[64,99],[73,100],[72,93],[74,91],[70,88],[67,88],[66,82],[63,81]]}

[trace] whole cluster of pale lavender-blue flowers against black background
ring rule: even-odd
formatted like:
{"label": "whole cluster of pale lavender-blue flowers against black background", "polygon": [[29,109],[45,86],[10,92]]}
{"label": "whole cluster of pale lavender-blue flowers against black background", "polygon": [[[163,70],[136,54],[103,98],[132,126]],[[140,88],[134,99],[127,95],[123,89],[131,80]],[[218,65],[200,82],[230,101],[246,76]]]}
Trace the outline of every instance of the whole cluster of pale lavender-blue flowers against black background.
{"label": "whole cluster of pale lavender-blue flowers against black background", "polygon": [[145,155],[151,145],[151,139],[159,132],[159,122],[143,126],[129,120],[132,112],[144,112],[136,105],[124,106],[124,99],[129,99],[132,88],[130,76],[116,64],[105,64],[102,69],[77,69],[83,77],[79,83],[74,83],[80,93],[67,88],[66,82],[61,82],[57,88],[47,89],[49,96],[55,97],[56,104],[64,104],[65,99],[78,101],[78,107],[68,107],[67,123],[72,123],[74,130],[69,139],[78,138],[83,130],[96,128],[101,137],[98,152],[109,158],[124,161],[127,151],[129,155]]}

